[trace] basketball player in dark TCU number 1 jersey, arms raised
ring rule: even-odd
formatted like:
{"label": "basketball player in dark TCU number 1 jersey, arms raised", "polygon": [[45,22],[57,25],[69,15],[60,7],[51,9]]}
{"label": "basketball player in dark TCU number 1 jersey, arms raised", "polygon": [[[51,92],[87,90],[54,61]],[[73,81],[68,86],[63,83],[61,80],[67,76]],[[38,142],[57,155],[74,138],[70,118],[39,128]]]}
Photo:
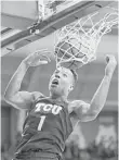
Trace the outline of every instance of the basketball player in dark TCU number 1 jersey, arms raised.
{"label": "basketball player in dark TCU number 1 jersey, arms raised", "polygon": [[104,78],[90,103],[82,100],[69,102],[67,97],[74,89],[77,76],[74,71],[66,67],[58,67],[53,73],[49,84],[50,97],[44,97],[38,91],[19,91],[28,67],[45,64],[49,61],[49,59],[42,61],[41,57],[41,52],[37,52],[24,59],[4,94],[6,102],[27,110],[15,160],[62,159],[65,141],[72,132],[72,119],[87,122],[97,116],[105,104],[117,64],[114,56],[106,58]]}

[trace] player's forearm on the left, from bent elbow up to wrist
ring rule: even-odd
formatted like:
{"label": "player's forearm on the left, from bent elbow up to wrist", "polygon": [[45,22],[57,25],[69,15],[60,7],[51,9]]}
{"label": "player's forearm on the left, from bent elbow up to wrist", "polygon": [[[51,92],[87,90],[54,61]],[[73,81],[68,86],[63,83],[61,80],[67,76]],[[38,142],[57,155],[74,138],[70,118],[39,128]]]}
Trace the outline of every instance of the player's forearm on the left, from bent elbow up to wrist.
{"label": "player's forearm on the left, from bent elbow up to wrist", "polygon": [[12,96],[14,96],[19,89],[21,89],[21,84],[23,82],[23,78],[25,76],[26,71],[28,70],[29,65],[25,62],[22,61],[19,64],[18,69],[12,76],[11,81],[9,82],[9,85],[5,89],[4,93],[4,98],[10,99]]}

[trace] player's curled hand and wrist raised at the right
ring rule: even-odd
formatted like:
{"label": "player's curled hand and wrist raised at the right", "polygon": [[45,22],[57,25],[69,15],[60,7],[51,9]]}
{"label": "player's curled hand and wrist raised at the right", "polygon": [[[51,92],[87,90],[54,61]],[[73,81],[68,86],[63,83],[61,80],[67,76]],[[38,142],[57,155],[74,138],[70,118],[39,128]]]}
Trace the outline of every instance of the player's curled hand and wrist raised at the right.
{"label": "player's curled hand and wrist raised at the right", "polygon": [[106,62],[105,75],[111,76],[117,65],[116,58],[113,54],[108,54],[106,56]]}

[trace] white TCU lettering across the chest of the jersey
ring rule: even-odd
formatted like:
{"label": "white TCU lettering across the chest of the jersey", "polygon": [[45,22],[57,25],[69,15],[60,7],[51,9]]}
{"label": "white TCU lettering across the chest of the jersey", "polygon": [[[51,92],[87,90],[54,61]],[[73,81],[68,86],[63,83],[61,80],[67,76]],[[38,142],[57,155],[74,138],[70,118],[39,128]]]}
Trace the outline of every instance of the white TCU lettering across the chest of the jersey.
{"label": "white TCU lettering across the chest of the jersey", "polygon": [[60,111],[62,110],[62,107],[56,106],[56,104],[47,104],[47,103],[37,103],[35,112],[44,112],[44,113],[53,113],[53,114],[58,114]]}

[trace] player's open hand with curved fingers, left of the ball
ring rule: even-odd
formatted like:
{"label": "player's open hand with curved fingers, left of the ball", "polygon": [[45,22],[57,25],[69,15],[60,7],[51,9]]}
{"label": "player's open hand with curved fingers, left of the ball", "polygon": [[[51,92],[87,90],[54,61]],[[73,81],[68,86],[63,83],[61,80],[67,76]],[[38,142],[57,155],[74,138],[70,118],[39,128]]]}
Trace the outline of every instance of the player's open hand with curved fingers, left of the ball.
{"label": "player's open hand with curved fingers, left of the ball", "polygon": [[35,53],[29,54],[26,59],[23,61],[27,63],[29,66],[38,66],[40,64],[47,64],[50,62],[50,58],[47,56],[47,53],[50,52],[47,49],[44,50],[38,50]]}

